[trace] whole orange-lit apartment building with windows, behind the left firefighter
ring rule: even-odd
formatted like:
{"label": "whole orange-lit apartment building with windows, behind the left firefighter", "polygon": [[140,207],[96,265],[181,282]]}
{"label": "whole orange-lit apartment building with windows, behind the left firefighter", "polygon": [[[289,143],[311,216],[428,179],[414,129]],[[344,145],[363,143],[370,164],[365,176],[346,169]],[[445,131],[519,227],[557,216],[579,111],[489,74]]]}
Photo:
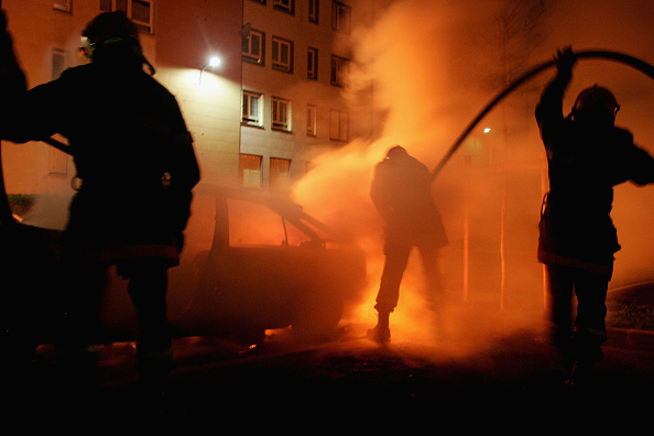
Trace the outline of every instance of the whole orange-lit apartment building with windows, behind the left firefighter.
{"label": "whole orange-lit apartment building with windows, behind the left firefighter", "polygon": [[[139,25],[154,77],[179,102],[203,183],[284,190],[316,154],[370,134],[344,91],[351,30],[371,25],[373,4],[4,0],[2,8],[30,87],[88,62],[78,55],[80,31],[102,11],[126,11]],[[219,65],[209,65],[211,56]],[[92,89],[79,91],[92,98]],[[40,142],[3,142],[2,165],[9,194],[65,192],[75,176],[70,156]]]}

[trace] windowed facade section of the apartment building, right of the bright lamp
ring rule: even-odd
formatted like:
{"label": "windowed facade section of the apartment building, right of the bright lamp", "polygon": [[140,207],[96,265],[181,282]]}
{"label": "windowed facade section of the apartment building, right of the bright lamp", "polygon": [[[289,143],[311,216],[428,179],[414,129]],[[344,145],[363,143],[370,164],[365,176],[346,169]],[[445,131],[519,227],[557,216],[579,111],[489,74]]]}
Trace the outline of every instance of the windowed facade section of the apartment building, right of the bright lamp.
{"label": "windowed facade section of the apartment building, right of the bright lamp", "polygon": [[316,154],[371,133],[345,92],[352,29],[372,24],[373,6],[372,0],[244,1],[239,157],[244,186],[284,189],[310,168]]}

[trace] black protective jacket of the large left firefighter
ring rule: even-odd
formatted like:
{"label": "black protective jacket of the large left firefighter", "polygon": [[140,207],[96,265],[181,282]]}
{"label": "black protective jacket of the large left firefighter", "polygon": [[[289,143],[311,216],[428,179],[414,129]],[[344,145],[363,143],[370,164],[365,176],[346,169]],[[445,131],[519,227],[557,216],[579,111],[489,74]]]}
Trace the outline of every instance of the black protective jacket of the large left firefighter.
{"label": "black protective jacket of the large left firefighter", "polygon": [[86,260],[174,265],[199,181],[193,140],[174,96],[126,47],[115,50],[26,91],[3,113],[0,134],[68,139],[80,188],[65,240]]}

